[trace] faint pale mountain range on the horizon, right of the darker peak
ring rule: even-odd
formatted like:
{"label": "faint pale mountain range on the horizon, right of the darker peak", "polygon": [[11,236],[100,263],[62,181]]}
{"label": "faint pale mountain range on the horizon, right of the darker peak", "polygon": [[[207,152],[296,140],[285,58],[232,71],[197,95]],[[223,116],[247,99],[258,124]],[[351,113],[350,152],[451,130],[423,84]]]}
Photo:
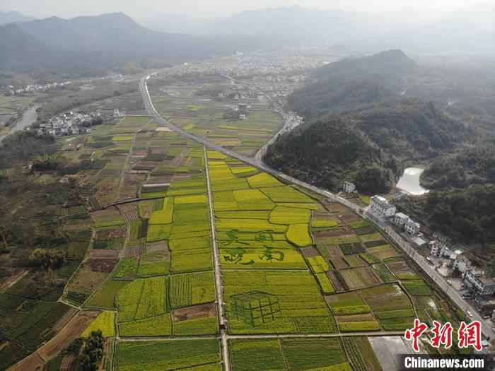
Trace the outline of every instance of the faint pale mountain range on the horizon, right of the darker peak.
{"label": "faint pale mountain range on the horizon, right of the darker peak", "polygon": [[470,6],[442,18],[431,12],[321,11],[299,6],[243,11],[227,18],[153,16],[140,19],[166,32],[256,40],[264,47],[345,45],[349,51],[495,53],[495,6]]}

